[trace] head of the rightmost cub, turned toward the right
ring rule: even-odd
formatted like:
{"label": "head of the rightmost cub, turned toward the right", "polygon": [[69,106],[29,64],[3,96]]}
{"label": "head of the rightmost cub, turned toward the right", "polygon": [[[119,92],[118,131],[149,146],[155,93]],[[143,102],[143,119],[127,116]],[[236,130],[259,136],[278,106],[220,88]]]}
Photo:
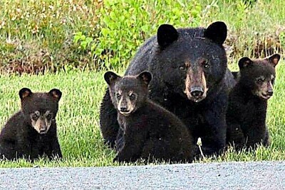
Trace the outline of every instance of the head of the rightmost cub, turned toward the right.
{"label": "head of the rightmost cub, turned toward the right", "polygon": [[261,99],[269,99],[273,95],[275,66],[280,60],[279,54],[271,55],[264,60],[250,60],[242,57],[239,60],[239,83],[252,91]]}

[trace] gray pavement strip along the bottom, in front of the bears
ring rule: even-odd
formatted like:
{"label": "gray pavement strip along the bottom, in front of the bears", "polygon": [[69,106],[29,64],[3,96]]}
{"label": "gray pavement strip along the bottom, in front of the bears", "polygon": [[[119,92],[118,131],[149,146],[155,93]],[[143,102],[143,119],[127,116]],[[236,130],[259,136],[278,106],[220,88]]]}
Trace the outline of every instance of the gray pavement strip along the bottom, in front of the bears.
{"label": "gray pavement strip along the bottom, in front of the bears", "polygon": [[285,189],[285,162],[0,169],[0,189]]}

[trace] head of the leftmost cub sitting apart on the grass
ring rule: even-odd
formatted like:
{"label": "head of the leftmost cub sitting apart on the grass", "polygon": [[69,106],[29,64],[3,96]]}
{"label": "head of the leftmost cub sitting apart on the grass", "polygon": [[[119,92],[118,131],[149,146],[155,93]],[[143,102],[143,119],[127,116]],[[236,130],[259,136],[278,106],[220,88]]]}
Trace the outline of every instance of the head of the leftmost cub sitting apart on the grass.
{"label": "head of the leftmost cub sitting apart on the grass", "polygon": [[30,89],[24,88],[19,91],[19,96],[25,120],[39,134],[48,133],[51,123],[56,119],[61,91],[51,89],[48,93],[33,93]]}

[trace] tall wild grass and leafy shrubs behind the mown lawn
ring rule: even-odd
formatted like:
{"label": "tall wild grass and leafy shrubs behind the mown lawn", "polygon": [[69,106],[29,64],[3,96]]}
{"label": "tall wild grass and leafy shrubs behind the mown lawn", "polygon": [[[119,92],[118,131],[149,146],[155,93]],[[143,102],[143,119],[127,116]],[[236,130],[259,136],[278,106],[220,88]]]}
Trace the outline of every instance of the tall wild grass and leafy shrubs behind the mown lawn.
{"label": "tall wild grass and leafy shrubs behind the mown lawn", "polygon": [[3,0],[0,10],[0,72],[125,67],[162,23],[224,21],[229,62],[282,53],[285,45],[282,0]]}

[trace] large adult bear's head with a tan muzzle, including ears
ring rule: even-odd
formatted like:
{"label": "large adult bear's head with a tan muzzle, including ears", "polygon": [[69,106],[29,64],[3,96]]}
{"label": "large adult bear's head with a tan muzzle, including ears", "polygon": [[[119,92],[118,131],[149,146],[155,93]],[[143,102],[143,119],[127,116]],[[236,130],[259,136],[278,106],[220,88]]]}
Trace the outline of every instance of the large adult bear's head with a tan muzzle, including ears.
{"label": "large adult bear's head with a tan muzzle, including ears", "polygon": [[222,44],[227,38],[223,22],[208,28],[175,29],[161,25],[157,30],[157,70],[153,73],[174,93],[199,102],[217,91],[227,71]]}

